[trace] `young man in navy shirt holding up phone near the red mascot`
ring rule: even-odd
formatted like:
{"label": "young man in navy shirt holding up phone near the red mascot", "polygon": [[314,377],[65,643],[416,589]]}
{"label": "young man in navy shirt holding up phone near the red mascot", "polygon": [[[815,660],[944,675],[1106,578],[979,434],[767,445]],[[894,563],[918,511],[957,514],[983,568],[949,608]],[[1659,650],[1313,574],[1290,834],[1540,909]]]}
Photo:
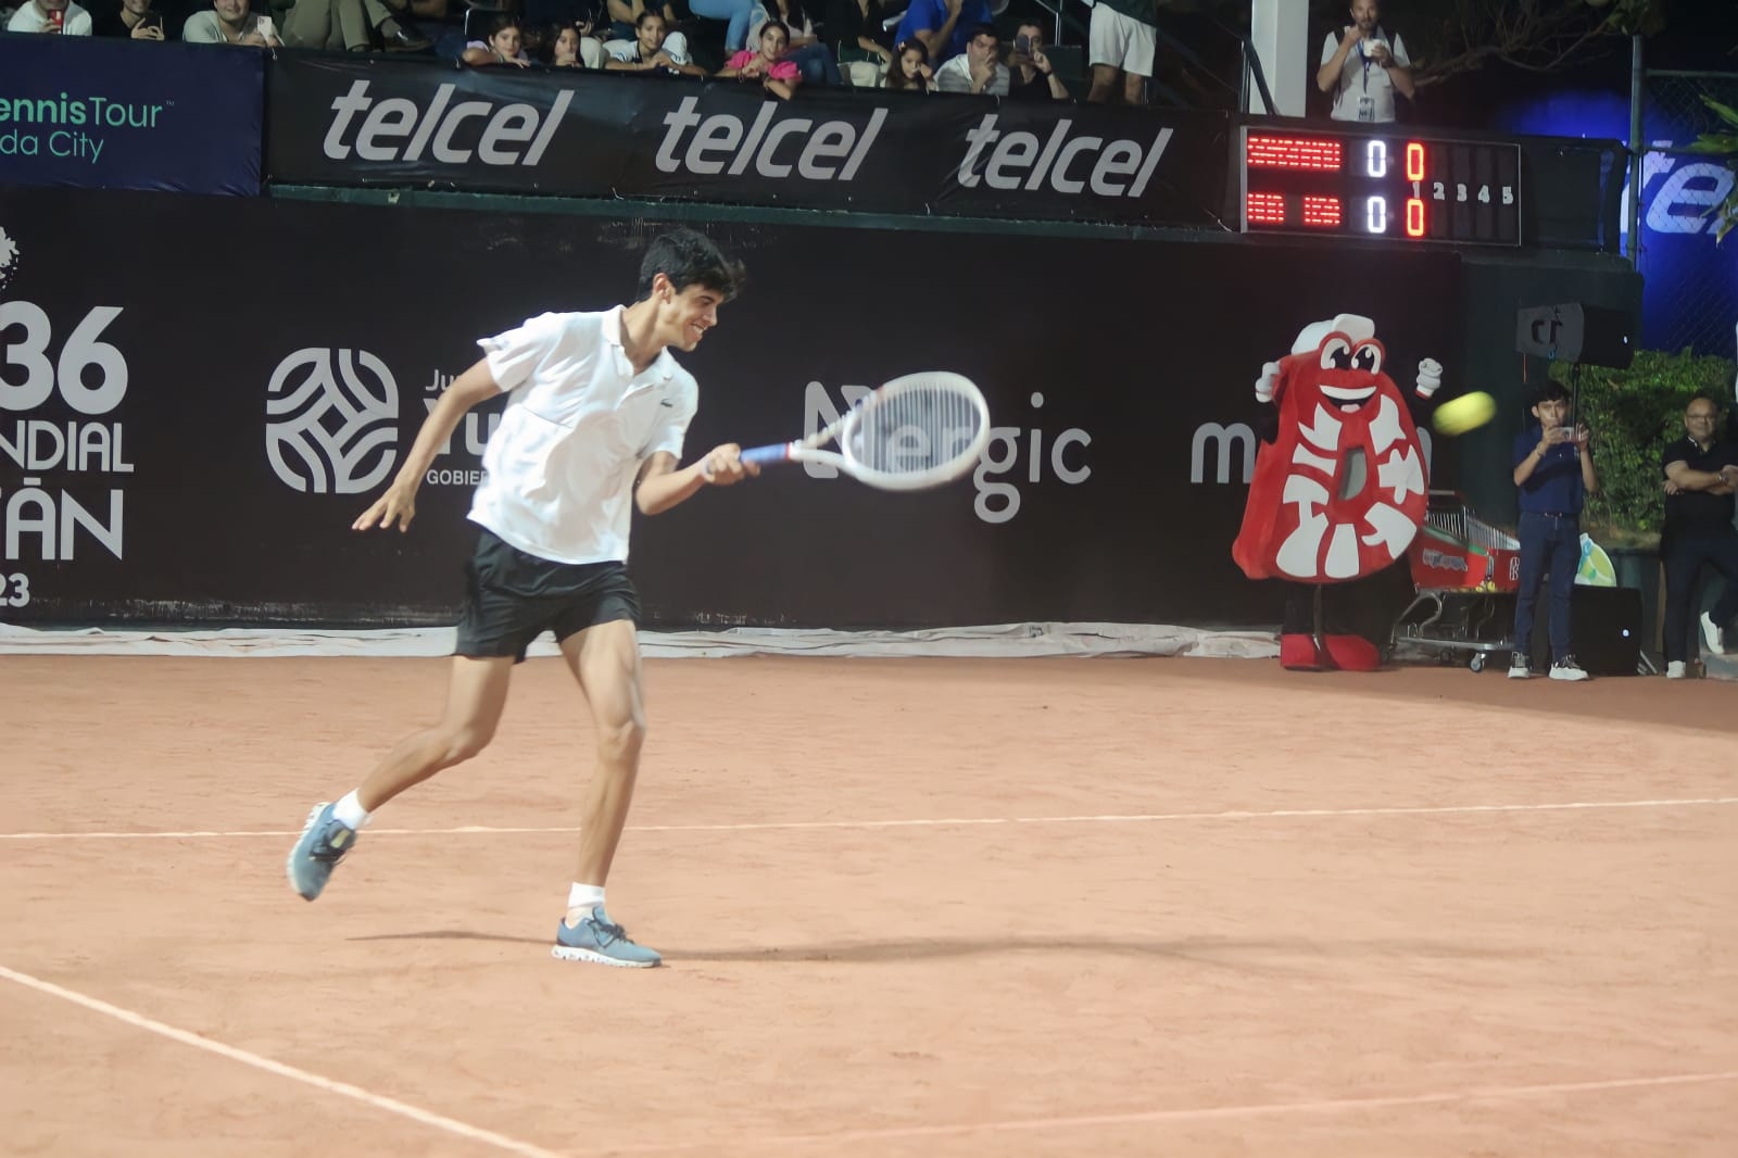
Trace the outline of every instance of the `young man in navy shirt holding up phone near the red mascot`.
{"label": "young man in navy shirt holding up phone near the red mascot", "polygon": [[1550,678],[1585,680],[1569,650],[1569,598],[1582,565],[1582,501],[1599,490],[1585,423],[1569,426],[1569,391],[1545,383],[1533,395],[1533,417],[1516,435],[1514,480],[1521,489],[1521,591],[1516,598],[1516,650],[1510,680],[1531,671],[1533,607],[1550,574]]}

